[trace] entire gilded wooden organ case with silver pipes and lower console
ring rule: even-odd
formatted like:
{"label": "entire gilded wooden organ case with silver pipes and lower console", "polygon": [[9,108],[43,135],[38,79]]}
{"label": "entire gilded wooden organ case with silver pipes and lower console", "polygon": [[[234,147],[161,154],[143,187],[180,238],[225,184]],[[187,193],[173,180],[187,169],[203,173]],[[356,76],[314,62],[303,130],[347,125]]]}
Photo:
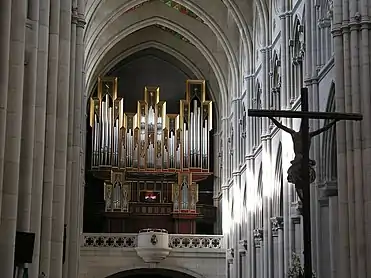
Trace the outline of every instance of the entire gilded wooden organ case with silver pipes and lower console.
{"label": "entire gilded wooden organ case with silver pipes and lower console", "polygon": [[136,219],[151,212],[160,217],[161,211],[163,217],[170,213],[179,227],[185,227],[173,231],[194,232],[198,182],[212,174],[212,102],[206,99],[205,81],[186,82],[179,114],[167,114],[160,88],[149,86],[136,112],[125,112],[117,89],[117,78],[99,78],[97,95],[90,100],[91,169],[104,180],[107,218]]}

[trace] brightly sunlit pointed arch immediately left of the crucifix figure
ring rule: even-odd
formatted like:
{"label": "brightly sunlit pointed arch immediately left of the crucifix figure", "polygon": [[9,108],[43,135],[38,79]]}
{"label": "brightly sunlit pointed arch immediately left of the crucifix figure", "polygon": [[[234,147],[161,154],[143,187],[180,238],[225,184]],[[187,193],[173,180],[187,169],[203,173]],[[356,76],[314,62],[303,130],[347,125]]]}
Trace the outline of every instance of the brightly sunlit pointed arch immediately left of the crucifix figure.
{"label": "brightly sunlit pointed arch immediately left of the crucifix figure", "polygon": [[278,145],[276,156],[276,167],[274,173],[274,189],[272,200],[272,215],[282,216],[282,190],[283,189],[283,172],[282,172],[282,144]]}

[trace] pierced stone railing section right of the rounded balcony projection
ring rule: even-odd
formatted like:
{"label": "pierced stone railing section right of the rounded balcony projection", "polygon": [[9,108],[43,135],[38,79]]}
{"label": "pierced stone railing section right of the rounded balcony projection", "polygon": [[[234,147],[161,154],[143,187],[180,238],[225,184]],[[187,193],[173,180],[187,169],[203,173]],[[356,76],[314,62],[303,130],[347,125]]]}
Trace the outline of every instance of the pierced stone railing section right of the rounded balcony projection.
{"label": "pierced stone railing section right of the rounded balcony projection", "polygon": [[220,235],[169,235],[169,247],[180,248],[202,248],[221,249],[223,236]]}

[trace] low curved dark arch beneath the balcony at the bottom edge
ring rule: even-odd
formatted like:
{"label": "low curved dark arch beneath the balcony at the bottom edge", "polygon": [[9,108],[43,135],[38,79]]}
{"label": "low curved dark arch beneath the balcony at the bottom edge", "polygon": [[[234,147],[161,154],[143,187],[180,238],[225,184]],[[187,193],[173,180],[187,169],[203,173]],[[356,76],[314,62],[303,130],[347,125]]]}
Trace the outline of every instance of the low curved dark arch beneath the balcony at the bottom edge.
{"label": "low curved dark arch beneath the balcony at the bottom edge", "polygon": [[163,277],[163,278],[204,278],[203,275],[180,267],[161,268],[134,268],[114,273],[106,278],[141,278],[141,277]]}

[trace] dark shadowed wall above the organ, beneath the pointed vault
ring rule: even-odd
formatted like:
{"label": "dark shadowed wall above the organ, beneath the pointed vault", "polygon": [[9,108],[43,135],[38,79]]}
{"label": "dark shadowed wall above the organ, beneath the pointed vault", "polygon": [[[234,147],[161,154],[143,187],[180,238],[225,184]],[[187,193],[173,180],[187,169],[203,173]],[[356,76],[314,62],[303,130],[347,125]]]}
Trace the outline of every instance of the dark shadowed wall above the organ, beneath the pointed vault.
{"label": "dark shadowed wall above the organ, beneath the pointed vault", "polygon": [[145,86],[160,87],[160,99],[168,113],[179,113],[179,100],[185,96],[186,80],[193,73],[178,59],[155,49],[139,51],[118,63],[108,75],[118,77],[118,92],[124,97],[125,112],[136,112]]}

